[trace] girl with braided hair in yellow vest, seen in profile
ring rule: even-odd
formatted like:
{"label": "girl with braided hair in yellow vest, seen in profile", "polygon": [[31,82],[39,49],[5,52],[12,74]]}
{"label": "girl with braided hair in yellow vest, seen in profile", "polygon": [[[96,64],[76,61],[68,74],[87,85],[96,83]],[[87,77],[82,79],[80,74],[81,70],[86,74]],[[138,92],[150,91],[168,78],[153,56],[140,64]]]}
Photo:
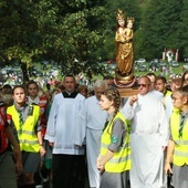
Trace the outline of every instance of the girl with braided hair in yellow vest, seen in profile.
{"label": "girl with braided hair in yellow vest, seen in profile", "polygon": [[100,105],[108,113],[96,160],[97,169],[102,173],[101,188],[126,188],[126,171],[130,169],[130,146],[127,121],[118,111],[119,92],[116,88],[105,90]]}

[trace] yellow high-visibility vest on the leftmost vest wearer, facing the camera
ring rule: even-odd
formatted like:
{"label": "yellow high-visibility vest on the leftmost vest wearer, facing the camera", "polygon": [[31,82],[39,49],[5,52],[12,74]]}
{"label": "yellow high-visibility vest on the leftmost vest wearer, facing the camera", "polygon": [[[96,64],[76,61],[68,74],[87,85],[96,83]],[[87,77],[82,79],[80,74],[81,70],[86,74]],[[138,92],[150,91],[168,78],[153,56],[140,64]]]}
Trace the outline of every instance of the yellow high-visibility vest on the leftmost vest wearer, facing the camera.
{"label": "yellow high-visibility vest on the leftmost vest wearer, facing the camera", "polygon": [[28,116],[28,118],[21,125],[19,112],[15,109],[14,105],[8,107],[7,114],[11,115],[11,119],[18,133],[18,138],[20,142],[20,149],[24,152],[38,153],[40,150],[40,145],[36,136],[36,123],[40,118],[40,107],[36,105],[30,105],[33,113]]}

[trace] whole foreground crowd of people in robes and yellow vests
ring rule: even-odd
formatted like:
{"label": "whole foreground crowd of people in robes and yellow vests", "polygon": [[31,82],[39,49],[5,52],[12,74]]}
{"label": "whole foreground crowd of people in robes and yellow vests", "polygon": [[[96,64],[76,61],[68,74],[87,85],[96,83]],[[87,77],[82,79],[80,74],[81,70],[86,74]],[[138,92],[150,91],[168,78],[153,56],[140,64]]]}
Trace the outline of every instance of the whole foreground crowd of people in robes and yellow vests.
{"label": "whole foreground crowd of people in robes and yellow vests", "polygon": [[3,85],[0,187],[187,188],[188,71],[136,82],[124,102],[111,76]]}

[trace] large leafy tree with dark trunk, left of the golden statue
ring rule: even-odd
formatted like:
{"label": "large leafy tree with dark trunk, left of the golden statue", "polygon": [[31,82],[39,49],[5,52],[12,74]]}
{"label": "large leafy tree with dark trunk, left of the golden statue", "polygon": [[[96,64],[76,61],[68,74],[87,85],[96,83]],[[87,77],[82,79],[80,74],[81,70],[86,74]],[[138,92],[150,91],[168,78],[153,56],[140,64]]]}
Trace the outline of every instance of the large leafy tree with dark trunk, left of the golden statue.
{"label": "large leafy tree with dark trunk, left of the golden statue", "polygon": [[64,73],[101,72],[92,53],[104,42],[104,0],[3,0],[1,61],[20,62],[24,81],[28,67],[44,59],[61,63]]}

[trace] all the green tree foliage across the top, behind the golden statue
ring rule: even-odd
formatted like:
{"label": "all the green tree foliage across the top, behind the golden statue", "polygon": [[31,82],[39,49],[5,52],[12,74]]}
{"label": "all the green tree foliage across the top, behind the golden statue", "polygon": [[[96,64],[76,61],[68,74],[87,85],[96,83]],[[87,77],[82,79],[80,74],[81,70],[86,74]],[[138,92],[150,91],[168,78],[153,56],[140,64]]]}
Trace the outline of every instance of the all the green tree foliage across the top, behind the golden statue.
{"label": "all the green tree foliage across the top, behind the golden statue", "polygon": [[0,64],[55,61],[62,72],[105,71],[100,61],[115,58],[117,9],[134,17],[135,58],[161,58],[164,49],[188,56],[187,0],[1,0]]}

